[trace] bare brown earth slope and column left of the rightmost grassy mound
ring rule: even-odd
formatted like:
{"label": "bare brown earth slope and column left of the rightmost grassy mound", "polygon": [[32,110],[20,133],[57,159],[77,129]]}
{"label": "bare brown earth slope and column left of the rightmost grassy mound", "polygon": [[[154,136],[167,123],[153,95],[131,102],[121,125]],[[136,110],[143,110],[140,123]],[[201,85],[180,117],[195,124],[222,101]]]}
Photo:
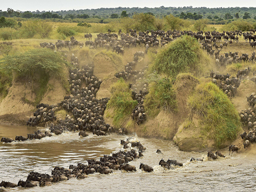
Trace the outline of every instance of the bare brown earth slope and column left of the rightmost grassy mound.
{"label": "bare brown earth slope and column left of the rightmost grassy mound", "polygon": [[198,79],[190,74],[180,74],[174,84],[178,112],[172,113],[171,111],[161,110],[155,118],[148,118],[140,126],[130,119],[126,124],[127,129],[131,132],[135,131],[140,136],[172,139],[179,126],[188,117],[187,99],[198,83]]}

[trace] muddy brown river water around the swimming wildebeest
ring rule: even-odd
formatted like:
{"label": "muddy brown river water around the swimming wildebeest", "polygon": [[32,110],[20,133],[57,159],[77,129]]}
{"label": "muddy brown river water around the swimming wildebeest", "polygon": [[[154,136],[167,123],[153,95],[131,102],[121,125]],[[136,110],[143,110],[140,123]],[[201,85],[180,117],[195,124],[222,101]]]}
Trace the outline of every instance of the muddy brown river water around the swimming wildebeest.
{"label": "muddy brown river water around the swimming wildebeest", "polygon": [[[27,126],[0,125],[0,138],[25,136],[38,128]],[[44,130],[45,128],[41,128]],[[86,164],[86,159],[98,159],[103,154],[122,149],[120,139],[134,137],[145,146],[143,157],[129,164],[135,165],[136,172],[113,171],[108,175],[90,174],[88,178],[53,183],[52,186],[34,188],[10,188],[7,191],[252,191],[256,187],[255,154],[222,153],[226,158],[209,161],[207,153],[180,151],[172,141],[138,138],[136,134],[105,137],[89,134],[80,138],[78,132],[46,137],[41,140],[0,143],[0,181],[18,183],[26,180],[30,171],[51,174],[54,166],[68,168],[70,164]],[[160,149],[163,154],[156,154]],[[204,157],[203,162],[189,162],[191,157]],[[158,163],[177,159],[183,167],[164,170]],[[141,163],[154,167],[153,173],[141,172]]]}

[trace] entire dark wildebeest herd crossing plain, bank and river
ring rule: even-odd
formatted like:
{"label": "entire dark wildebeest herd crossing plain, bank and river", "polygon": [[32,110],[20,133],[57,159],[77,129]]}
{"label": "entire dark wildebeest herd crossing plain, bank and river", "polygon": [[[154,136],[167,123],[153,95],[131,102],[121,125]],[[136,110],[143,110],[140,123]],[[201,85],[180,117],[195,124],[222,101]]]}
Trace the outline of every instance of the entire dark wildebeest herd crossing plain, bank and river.
{"label": "entire dark wildebeest herd crossing plain, bank and river", "polygon": [[[149,33],[151,32],[151,35]],[[245,40],[249,39],[251,46],[253,47],[255,42],[255,36],[252,34],[243,34]],[[190,35],[194,36],[198,41],[202,42],[202,47],[211,55],[214,54],[212,50],[211,43],[214,43],[213,46],[217,51],[215,52],[216,61],[219,63],[232,63],[238,61],[255,61],[255,52],[252,53],[251,57],[248,54],[242,54],[241,57],[238,57],[238,53],[225,53],[225,56],[219,56],[219,50],[222,49],[223,46],[227,46],[227,44],[223,43],[218,46],[216,43],[221,42],[221,38],[228,39],[234,42],[237,41],[237,37],[242,35],[242,31],[231,31],[226,33],[217,33],[216,31],[207,31],[205,36],[203,36],[203,31],[198,31],[197,33],[193,33],[192,31],[146,31],[146,33],[130,30],[130,34],[121,34],[121,40],[119,40],[116,34],[98,34],[97,39],[94,42],[87,41],[85,42],[85,46],[90,46],[91,49],[97,47],[104,47],[105,49],[113,48],[113,51],[117,53],[124,54],[124,49],[129,48],[130,46],[145,46],[147,53],[149,47],[151,46],[164,46],[165,44],[173,41],[173,39],[180,37],[182,35]],[[235,36],[235,35],[236,36]],[[90,34],[86,34],[85,38],[92,38],[89,36]],[[235,36],[235,37],[234,37]],[[157,37],[160,37],[160,43]],[[233,38],[234,37],[234,38]],[[251,41],[252,40],[252,41]],[[229,42],[230,43],[230,42]],[[59,40],[57,43],[41,43],[42,47],[50,48],[52,50],[62,49],[62,48],[74,48],[74,47],[83,47],[82,42],[76,41],[75,38],[71,37],[70,41],[61,41]],[[255,45],[254,45],[255,47]],[[134,54],[134,58],[132,62],[127,63],[125,66],[125,70],[118,72],[115,76],[117,78],[123,78],[125,80],[132,81],[134,84],[130,86],[133,90],[132,98],[138,101],[137,107],[133,110],[132,118],[137,124],[141,124],[146,119],[145,109],[143,107],[143,99],[145,95],[148,93],[147,87],[148,84],[143,81],[143,75],[145,74],[144,68],[139,71],[135,71],[134,66],[137,64],[140,57],[144,57],[144,52],[137,52]],[[217,60],[218,59],[218,60]],[[231,59],[231,60],[230,60]],[[93,134],[96,135],[106,135],[108,133],[114,132],[114,128],[109,124],[106,124],[103,119],[103,114],[106,109],[107,102],[109,98],[96,99],[96,94],[100,88],[100,84],[102,83],[101,79],[98,79],[93,75],[93,63],[91,65],[81,66],[78,68],[78,59],[71,56],[72,67],[69,69],[70,79],[68,79],[70,84],[71,94],[65,99],[57,103],[55,105],[47,105],[41,103],[37,106],[37,110],[34,113],[33,117],[30,117],[28,120],[28,125],[36,126],[39,123],[52,122],[56,120],[55,112],[59,109],[64,109],[68,112],[71,112],[74,118],[67,115],[66,119],[59,120],[57,125],[50,124],[49,130],[51,133],[55,135],[61,134],[63,131],[79,131],[78,135],[82,137],[87,137],[89,134],[86,131],[92,131]],[[237,76],[230,78],[227,75],[218,75],[212,72],[211,77],[213,78],[213,83],[218,84],[227,95],[230,97],[234,97],[236,93],[236,89],[241,83],[241,79],[246,77],[250,73],[251,68],[248,67],[244,70],[239,70],[237,72]],[[215,79],[215,80],[214,80]],[[82,85],[85,85],[83,87]],[[241,135],[242,139],[244,139],[244,147],[248,147],[250,142],[255,142],[255,131],[256,131],[256,118],[255,118],[255,110],[254,103],[256,101],[256,97],[254,98],[255,93],[250,95],[248,101],[253,109],[249,108],[246,111],[242,111],[241,119],[242,121],[248,125],[249,133],[243,133]],[[254,125],[255,123],[255,125]],[[27,137],[23,137],[22,135],[17,136],[15,141],[25,141],[27,139],[41,139],[44,137],[51,137],[51,134],[48,131],[36,131],[34,133],[28,134]],[[125,133],[125,129],[117,130],[116,133],[122,134]],[[2,142],[12,142],[13,140],[10,138],[2,138]],[[129,146],[131,144],[131,147]],[[39,186],[51,185],[52,182],[58,182],[61,180],[67,180],[72,177],[76,177],[77,179],[86,178],[88,174],[92,174],[94,172],[98,172],[101,174],[108,174],[113,172],[112,170],[125,170],[125,171],[136,171],[136,167],[129,165],[133,159],[139,158],[143,156],[143,151],[145,151],[145,147],[141,145],[140,142],[130,142],[129,140],[121,141],[121,144],[124,146],[124,149],[130,149],[129,151],[119,151],[118,153],[112,153],[111,155],[105,155],[100,158],[100,161],[95,159],[88,159],[87,165],[82,163],[78,163],[77,165],[70,165],[69,169],[65,169],[63,167],[54,167],[52,170],[52,175],[49,174],[41,174],[36,172],[30,172],[27,180],[18,182],[18,185],[14,183],[2,181],[0,186],[2,187],[34,187],[39,183]],[[132,147],[138,147],[138,153]],[[237,146],[229,146],[229,152],[238,151]],[[230,154],[230,153],[229,153]],[[207,157],[212,159],[217,159],[217,157],[225,157],[220,151],[216,151],[216,153],[212,153],[209,151]],[[191,158],[190,161],[204,161],[203,158]],[[163,166],[165,169],[171,169],[172,166],[182,166],[183,164],[176,161],[168,159],[166,162],[164,159],[161,159],[159,165]],[[154,171],[153,167],[143,164],[140,164],[140,169],[146,172]],[[37,183],[35,183],[37,182]]]}

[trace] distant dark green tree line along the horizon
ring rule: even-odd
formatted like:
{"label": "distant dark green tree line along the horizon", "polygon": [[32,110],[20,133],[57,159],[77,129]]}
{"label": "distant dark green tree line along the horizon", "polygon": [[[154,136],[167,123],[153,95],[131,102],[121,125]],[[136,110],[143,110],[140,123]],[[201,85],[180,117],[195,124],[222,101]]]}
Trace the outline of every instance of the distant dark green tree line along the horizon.
{"label": "distant dark green tree line along the horizon", "polygon": [[163,18],[172,14],[181,19],[210,19],[213,21],[222,21],[229,19],[255,19],[256,7],[116,7],[84,10],[61,10],[61,11],[14,11],[8,8],[6,11],[0,10],[0,17],[20,17],[20,18],[38,18],[38,19],[117,19],[123,17],[133,17],[134,14],[148,13],[155,17]]}

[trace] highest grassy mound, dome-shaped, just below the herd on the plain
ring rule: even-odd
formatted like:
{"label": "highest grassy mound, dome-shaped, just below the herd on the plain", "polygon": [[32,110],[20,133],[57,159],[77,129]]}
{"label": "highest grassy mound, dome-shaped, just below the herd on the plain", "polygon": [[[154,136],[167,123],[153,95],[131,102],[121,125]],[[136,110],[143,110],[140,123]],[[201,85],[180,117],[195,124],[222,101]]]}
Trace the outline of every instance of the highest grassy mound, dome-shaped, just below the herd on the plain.
{"label": "highest grassy mound, dome-shaped, just below the herd on the plain", "polygon": [[151,71],[175,77],[179,73],[204,74],[210,58],[194,37],[183,36],[167,44],[156,56]]}

